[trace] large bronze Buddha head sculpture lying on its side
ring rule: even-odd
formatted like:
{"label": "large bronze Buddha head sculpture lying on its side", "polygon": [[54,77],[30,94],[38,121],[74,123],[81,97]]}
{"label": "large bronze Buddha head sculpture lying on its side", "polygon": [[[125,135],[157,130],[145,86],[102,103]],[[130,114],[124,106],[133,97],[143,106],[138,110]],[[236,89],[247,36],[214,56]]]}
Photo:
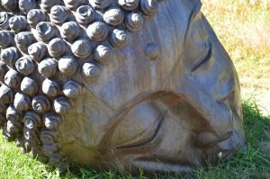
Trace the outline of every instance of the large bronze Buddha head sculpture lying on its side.
{"label": "large bronze Buddha head sculpture lying on its side", "polygon": [[188,172],[244,145],[238,76],[199,0],[1,4],[0,125],[23,152]]}

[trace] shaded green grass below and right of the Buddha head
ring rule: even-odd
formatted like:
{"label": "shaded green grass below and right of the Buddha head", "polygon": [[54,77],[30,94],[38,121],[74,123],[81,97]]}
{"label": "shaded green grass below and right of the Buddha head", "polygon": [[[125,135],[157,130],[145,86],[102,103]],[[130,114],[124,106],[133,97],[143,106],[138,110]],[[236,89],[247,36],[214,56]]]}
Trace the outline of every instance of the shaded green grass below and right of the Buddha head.
{"label": "shaded green grass below and right of the Buddha head", "polygon": [[[262,142],[270,142],[270,118],[261,115],[256,103],[244,102],[244,130],[247,138],[247,150],[238,151],[218,166],[200,168],[191,175],[163,174],[151,178],[270,178],[269,148],[263,149]],[[125,173],[121,167],[107,172],[71,167],[63,178],[148,178],[143,172],[137,177]]]}

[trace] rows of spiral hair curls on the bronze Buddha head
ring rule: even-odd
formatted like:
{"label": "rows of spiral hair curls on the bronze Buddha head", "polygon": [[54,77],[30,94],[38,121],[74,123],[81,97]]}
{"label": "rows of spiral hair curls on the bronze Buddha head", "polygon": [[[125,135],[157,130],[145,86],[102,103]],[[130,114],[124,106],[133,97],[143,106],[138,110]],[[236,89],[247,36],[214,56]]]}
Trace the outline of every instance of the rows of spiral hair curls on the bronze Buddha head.
{"label": "rows of spiral hair curls on the bronze Buddha head", "polygon": [[95,83],[113,50],[129,45],[144,16],[157,13],[158,2],[1,0],[7,11],[0,13],[4,137],[52,166],[67,164],[58,127],[83,93],[77,76]]}

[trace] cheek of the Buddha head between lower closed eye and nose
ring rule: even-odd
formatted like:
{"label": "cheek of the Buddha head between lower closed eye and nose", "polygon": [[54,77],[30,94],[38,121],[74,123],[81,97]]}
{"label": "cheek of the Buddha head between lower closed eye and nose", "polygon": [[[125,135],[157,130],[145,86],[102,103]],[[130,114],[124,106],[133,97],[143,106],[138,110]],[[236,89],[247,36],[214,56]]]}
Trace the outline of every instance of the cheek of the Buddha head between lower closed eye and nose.
{"label": "cheek of the Buddha head between lower closed eye and nose", "polygon": [[[182,113],[182,115],[186,115]],[[184,116],[188,119],[190,116]],[[195,133],[192,126],[184,125],[184,119],[167,116],[160,129],[162,142],[154,147],[155,152],[164,163],[187,166],[199,166],[202,151],[193,144]],[[166,162],[166,161],[170,162]]]}

